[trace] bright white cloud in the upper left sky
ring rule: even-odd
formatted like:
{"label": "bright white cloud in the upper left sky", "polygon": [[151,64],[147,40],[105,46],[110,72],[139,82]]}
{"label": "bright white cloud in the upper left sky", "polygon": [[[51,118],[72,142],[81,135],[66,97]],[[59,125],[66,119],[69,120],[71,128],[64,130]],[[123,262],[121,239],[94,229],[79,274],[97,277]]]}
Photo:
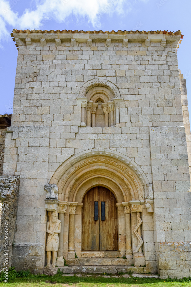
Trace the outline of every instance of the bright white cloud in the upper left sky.
{"label": "bright white cloud in the upper left sky", "polygon": [[[22,30],[39,29],[45,24],[45,21],[55,20],[62,23],[72,14],[77,19],[86,17],[95,28],[101,28],[99,18],[102,14],[114,12],[123,14],[123,7],[129,3],[127,0],[36,0],[34,9],[27,8],[19,16],[18,13],[11,10],[17,1],[19,0],[11,2],[0,0],[0,40],[9,34],[6,28],[7,24]],[[130,5],[131,2],[132,0],[130,0]]]}

